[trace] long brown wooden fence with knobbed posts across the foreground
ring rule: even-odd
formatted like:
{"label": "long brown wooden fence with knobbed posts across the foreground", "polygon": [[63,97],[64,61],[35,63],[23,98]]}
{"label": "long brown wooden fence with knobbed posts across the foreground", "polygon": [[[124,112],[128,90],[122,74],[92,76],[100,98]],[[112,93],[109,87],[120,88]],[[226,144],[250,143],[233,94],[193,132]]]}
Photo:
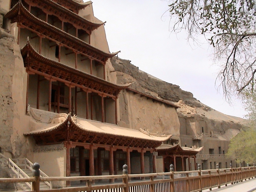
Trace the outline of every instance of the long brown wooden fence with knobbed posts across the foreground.
{"label": "long brown wooden fence with knobbed posts across the foreground", "polygon": [[[0,178],[3,182],[33,182],[34,192],[196,192],[221,185],[234,184],[246,179],[256,177],[255,165],[251,167],[238,167],[227,169],[211,169],[174,172],[170,165],[170,172],[128,174],[127,165],[123,166],[122,175],[108,176],[79,176],[79,177],[40,177],[39,164],[33,164],[32,178]],[[178,177],[177,177],[178,175]],[[94,184],[96,180],[121,179],[123,182]],[[138,180],[139,179],[139,180]],[[40,181],[77,181],[84,180],[86,185],[80,187],[66,187],[61,189],[39,189]]]}

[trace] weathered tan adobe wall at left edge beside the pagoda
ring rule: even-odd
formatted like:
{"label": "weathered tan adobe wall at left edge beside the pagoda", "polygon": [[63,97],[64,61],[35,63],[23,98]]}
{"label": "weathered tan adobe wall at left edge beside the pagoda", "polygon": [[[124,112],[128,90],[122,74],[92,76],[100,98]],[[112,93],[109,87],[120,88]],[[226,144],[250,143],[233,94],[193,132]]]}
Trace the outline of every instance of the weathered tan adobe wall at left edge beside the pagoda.
{"label": "weathered tan adobe wall at left edge beside the pagoda", "polygon": [[[25,115],[27,75],[14,37],[0,28],[0,147],[10,158],[32,158]],[[33,141],[32,141],[33,143]]]}

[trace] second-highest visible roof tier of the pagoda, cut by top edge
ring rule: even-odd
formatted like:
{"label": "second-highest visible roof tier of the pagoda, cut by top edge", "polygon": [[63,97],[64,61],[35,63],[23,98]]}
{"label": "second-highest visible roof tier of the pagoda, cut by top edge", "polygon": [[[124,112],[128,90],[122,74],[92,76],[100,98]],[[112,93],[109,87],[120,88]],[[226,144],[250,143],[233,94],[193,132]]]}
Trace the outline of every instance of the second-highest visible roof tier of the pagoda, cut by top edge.
{"label": "second-highest visible roof tier of the pagoda, cut by top edge", "polygon": [[55,3],[52,0],[25,0],[27,4],[40,8],[45,13],[51,13],[57,16],[60,20],[64,22],[71,23],[72,25],[78,26],[81,29],[91,33],[91,31],[97,29],[99,26],[106,22],[91,22],[78,14],[68,10],[67,8]]}

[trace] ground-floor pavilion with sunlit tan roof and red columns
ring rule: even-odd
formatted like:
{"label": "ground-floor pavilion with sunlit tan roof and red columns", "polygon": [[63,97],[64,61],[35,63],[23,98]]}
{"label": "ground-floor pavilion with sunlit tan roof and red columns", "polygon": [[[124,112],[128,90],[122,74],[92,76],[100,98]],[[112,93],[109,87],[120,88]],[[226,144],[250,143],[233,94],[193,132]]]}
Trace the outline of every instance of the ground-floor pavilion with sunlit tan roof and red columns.
{"label": "ground-floor pavilion with sunlit tan roof and red columns", "polygon": [[[171,137],[171,135],[160,136],[143,130],[122,128],[76,116],[71,117],[70,114],[65,113],[57,114],[41,129],[25,133],[25,135],[33,136],[37,145],[64,143],[67,149],[67,176],[70,176],[71,171],[80,172],[82,176],[102,175],[102,165],[105,166],[102,159],[106,158],[102,156],[106,154],[105,151],[108,151],[108,165],[106,166],[109,166],[110,175],[117,174],[117,167],[122,167],[123,163],[127,163],[130,174],[130,154],[135,151],[140,153],[140,170],[141,173],[145,173],[144,153],[153,153],[156,147]],[[70,154],[71,149],[72,154]],[[95,150],[97,153],[94,153]],[[117,159],[121,161],[117,162]],[[153,155],[153,172],[156,172],[155,155]]]}

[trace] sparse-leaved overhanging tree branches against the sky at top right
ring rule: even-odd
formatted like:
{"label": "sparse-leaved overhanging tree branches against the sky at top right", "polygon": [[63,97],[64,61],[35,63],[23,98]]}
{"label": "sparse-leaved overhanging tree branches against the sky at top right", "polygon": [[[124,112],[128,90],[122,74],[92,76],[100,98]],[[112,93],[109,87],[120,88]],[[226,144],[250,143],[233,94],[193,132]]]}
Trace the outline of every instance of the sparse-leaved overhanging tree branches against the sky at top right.
{"label": "sparse-leaved overhanging tree branches against the sky at top right", "polygon": [[[252,86],[256,73],[256,0],[170,0],[171,31],[203,34],[214,47],[226,98]],[[173,24],[173,25],[172,25]]]}

